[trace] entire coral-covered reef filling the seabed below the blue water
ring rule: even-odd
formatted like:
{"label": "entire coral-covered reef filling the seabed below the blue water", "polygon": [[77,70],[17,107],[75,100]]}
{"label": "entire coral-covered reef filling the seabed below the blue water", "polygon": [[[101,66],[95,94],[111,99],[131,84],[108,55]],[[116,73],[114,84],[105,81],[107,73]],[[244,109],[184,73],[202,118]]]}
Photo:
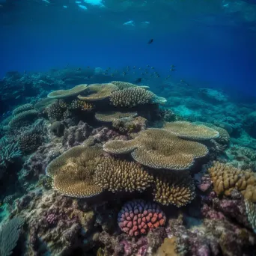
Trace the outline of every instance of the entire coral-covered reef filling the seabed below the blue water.
{"label": "entire coral-covered reef filling the seabed below the blue water", "polygon": [[256,255],[252,106],[61,72],[1,81],[1,256]]}

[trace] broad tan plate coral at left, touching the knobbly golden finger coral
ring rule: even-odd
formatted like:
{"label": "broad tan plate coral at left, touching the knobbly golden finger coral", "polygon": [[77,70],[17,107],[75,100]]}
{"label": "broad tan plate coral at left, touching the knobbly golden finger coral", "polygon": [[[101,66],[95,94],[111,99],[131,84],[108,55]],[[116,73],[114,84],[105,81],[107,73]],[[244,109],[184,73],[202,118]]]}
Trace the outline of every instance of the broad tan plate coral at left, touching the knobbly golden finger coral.
{"label": "broad tan plate coral at left, touching the knobbly golden finger coral", "polygon": [[76,146],[58,156],[46,168],[53,188],[76,198],[100,194],[102,188],[94,182],[94,171],[102,153],[98,147]]}

